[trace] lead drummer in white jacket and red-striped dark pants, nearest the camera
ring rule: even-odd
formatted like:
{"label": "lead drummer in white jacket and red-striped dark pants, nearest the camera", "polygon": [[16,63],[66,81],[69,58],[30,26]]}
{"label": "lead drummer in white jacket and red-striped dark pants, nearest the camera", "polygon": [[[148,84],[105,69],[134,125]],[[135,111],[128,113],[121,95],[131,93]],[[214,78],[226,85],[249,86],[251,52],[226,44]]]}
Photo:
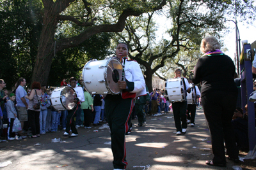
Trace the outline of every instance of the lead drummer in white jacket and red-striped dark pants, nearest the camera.
{"label": "lead drummer in white jacket and red-striped dark pants, nearest the camera", "polygon": [[134,60],[127,60],[128,46],[119,43],[116,47],[116,58],[119,59],[125,72],[125,80],[118,80],[121,94],[108,94],[105,98],[105,111],[111,130],[111,149],[113,153],[114,170],[125,169],[127,166],[125,150],[125,132],[128,131],[128,120],[132,113],[134,98],[146,95],[145,80],[139,64]]}

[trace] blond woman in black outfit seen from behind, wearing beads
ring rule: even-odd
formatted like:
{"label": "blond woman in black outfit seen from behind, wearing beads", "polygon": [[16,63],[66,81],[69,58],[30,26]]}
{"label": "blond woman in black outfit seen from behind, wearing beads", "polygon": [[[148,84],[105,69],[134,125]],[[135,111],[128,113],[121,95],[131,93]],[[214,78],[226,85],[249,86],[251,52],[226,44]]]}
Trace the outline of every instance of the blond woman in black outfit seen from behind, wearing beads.
{"label": "blond woman in black outfit seen from behind, wearing beads", "polygon": [[235,66],[220,50],[214,36],[202,39],[200,50],[204,55],[196,63],[193,83],[201,83],[201,101],[209,124],[213,159],[209,166],[226,166],[225,148],[228,159],[238,162],[238,149],[231,120],[236,109],[237,87],[234,83]]}

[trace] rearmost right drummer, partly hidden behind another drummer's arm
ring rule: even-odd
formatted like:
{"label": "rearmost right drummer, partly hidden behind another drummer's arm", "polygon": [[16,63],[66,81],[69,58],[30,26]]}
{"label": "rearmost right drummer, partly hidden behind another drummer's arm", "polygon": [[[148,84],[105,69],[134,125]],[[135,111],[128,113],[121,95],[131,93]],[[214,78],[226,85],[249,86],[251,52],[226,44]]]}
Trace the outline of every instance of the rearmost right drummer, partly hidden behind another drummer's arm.
{"label": "rearmost right drummer, partly hidden behind another drummer's arm", "polygon": [[[192,79],[189,78],[188,80],[189,84],[193,83]],[[197,85],[195,85],[196,89],[196,98],[199,98],[201,96],[200,90],[198,89]],[[195,126],[195,117],[196,117],[196,103],[188,104],[188,124],[191,123],[191,127]]]}

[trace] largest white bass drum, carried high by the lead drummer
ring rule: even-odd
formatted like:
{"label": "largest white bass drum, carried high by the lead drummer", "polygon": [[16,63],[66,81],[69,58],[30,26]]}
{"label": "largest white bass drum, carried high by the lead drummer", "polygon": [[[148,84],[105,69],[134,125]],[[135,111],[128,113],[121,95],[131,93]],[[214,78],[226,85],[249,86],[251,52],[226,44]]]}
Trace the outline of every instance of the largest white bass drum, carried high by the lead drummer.
{"label": "largest white bass drum, carried high by the lead drummer", "polygon": [[83,68],[83,85],[91,94],[120,94],[123,66],[118,59],[90,60]]}

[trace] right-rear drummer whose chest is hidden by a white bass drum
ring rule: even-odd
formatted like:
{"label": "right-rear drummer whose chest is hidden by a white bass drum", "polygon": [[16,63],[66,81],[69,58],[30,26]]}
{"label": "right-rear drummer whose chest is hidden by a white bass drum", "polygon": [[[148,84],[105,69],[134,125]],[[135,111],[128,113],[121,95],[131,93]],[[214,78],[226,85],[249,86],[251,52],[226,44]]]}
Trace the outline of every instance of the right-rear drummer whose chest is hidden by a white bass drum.
{"label": "right-rear drummer whose chest is hidden by a white bass drum", "polygon": [[[181,70],[179,68],[175,69],[174,71],[175,77],[174,78],[180,78],[181,76]],[[188,80],[184,78],[186,92],[190,93],[190,86],[188,83]],[[183,87],[184,88],[184,87]],[[173,110],[173,117],[174,117],[174,122],[175,122],[175,127],[176,127],[176,135],[181,135],[181,134],[186,134],[187,131],[187,116],[186,116],[186,110],[187,110],[187,101],[182,101],[182,102],[173,102],[172,103],[172,110]],[[182,124],[180,123],[180,120]]]}

